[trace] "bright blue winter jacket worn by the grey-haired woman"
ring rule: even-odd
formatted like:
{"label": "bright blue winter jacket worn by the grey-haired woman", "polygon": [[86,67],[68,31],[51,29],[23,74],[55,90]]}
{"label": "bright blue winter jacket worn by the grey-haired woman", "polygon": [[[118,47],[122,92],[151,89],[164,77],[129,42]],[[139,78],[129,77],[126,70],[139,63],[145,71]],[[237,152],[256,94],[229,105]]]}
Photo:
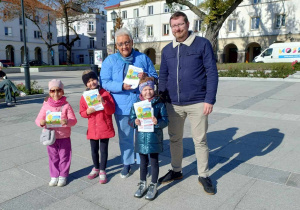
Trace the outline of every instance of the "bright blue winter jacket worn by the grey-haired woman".
{"label": "bright blue winter jacket worn by the grey-haired woman", "polygon": [[[158,76],[150,58],[138,51],[133,51],[133,53],[133,65],[142,68],[149,77],[157,79]],[[124,67],[124,61],[117,55],[117,53],[115,53],[104,60],[100,72],[101,85],[113,96],[116,102],[115,114],[117,115],[129,115],[132,104],[137,101],[138,95],[140,94],[138,88],[134,90],[122,89]]]}

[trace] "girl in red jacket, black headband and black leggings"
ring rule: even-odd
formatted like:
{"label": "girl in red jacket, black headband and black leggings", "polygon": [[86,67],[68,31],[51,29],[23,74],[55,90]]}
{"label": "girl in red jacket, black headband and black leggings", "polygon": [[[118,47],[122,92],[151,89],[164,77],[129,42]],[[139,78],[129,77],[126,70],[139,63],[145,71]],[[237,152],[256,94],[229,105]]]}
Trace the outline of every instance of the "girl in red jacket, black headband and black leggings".
{"label": "girl in red jacket, black headband and black leggings", "polygon": [[[93,71],[84,71],[82,81],[87,87],[87,90],[99,90],[97,99],[104,107],[104,109],[100,111],[96,111],[92,107],[89,108],[85,99],[81,96],[79,113],[81,117],[88,118],[87,139],[90,140],[94,163],[94,168],[88,175],[88,179],[94,179],[99,175],[99,182],[105,184],[107,182],[105,168],[108,157],[108,140],[115,136],[112,123],[112,114],[115,112],[115,102],[109,92],[99,86],[98,77]],[[99,144],[101,162],[99,162]]]}

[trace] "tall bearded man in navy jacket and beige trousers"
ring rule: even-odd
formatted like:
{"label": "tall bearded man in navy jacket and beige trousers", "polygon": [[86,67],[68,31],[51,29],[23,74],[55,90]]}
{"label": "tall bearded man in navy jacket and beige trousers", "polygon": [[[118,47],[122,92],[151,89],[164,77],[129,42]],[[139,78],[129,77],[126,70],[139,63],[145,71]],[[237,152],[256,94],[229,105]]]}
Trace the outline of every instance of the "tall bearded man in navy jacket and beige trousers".
{"label": "tall bearded man in navy jacket and beige trousers", "polygon": [[197,158],[198,181],[205,192],[215,194],[208,177],[208,146],[206,132],[208,115],[216,102],[218,71],[210,42],[189,32],[189,22],[183,12],[170,18],[175,37],[164,47],[159,74],[159,91],[167,99],[171,150],[170,170],[159,179],[161,183],[181,179],[183,128],[186,117],[191,122]]}

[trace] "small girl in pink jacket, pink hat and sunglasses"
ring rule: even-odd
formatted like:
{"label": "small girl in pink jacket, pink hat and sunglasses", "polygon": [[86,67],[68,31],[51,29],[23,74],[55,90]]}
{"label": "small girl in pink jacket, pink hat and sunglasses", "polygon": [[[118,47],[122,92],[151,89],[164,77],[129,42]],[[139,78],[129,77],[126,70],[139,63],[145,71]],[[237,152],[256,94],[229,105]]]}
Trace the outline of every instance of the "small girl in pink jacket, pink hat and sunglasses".
{"label": "small girl in pink jacket, pink hat and sunglasses", "polygon": [[56,141],[47,146],[49,155],[49,169],[51,180],[49,186],[65,186],[71,165],[71,127],[77,123],[71,105],[66,101],[64,95],[64,85],[58,79],[53,79],[48,83],[49,97],[43,103],[43,107],[38,114],[35,123],[39,127],[46,125],[46,112],[61,111],[62,127],[55,129]]}

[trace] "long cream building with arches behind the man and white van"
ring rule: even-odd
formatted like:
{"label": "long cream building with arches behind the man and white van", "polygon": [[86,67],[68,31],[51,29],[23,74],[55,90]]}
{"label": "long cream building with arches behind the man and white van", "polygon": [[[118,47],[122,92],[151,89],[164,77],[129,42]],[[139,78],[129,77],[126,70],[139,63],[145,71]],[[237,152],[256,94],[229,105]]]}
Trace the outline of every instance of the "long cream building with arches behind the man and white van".
{"label": "long cream building with arches behind the man and white van", "polygon": [[[198,5],[201,0],[192,0]],[[298,4],[297,4],[298,3]],[[139,0],[125,0],[105,7],[108,15],[108,54],[113,53],[114,10],[122,18],[123,27],[132,31],[134,48],[147,54],[154,64],[160,64],[162,48],[173,39],[169,25],[171,11],[165,1],[157,0],[144,6]],[[185,6],[177,6],[189,18],[189,30],[203,36],[201,20]],[[273,42],[300,39],[299,0],[245,0],[224,22],[219,34],[220,62],[249,62],[262,48]]]}

